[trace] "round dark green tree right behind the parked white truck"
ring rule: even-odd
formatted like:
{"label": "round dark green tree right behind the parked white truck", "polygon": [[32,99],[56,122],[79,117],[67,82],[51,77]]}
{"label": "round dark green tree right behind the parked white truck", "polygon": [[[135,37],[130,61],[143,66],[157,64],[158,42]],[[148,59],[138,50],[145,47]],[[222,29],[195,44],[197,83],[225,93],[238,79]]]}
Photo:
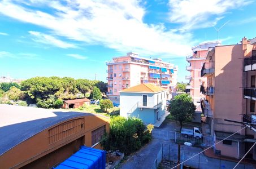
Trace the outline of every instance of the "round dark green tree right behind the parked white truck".
{"label": "round dark green tree right behind the parked white truck", "polygon": [[175,121],[180,122],[180,130],[185,120],[192,118],[196,105],[194,105],[192,97],[187,94],[181,94],[174,97],[167,107]]}

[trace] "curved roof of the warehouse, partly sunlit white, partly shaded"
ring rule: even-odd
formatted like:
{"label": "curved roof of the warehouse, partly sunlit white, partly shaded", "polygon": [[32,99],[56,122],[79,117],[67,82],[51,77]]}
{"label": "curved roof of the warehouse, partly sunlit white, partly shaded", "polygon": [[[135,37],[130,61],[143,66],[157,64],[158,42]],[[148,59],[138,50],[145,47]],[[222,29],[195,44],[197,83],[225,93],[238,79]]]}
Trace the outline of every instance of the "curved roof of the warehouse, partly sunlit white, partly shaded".
{"label": "curved roof of the warehouse, partly sunlit white, partly shaded", "polygon": [[57,123],[75,117],[96,115],[6,104],[0,104],[0,110],[0,155]]}

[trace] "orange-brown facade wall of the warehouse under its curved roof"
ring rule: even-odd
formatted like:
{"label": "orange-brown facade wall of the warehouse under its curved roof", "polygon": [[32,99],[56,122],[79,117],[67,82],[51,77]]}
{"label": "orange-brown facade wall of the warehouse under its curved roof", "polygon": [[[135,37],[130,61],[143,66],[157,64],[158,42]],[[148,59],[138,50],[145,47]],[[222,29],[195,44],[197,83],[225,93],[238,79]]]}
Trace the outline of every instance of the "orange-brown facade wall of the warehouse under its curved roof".
{"label": "orange-brown facade wall of the warehouse under its curved roof", "polygon": [[[50,144],[49,141],[49,130],[51,130],[54,127],[58,127],[62,125],[63,123],[67,123],[69,121],[72,121],[74,119],[81,119],[84,118],[84,127],[83,130],[75,130],[71,135],[68,135],[67,137],[64,137],[64,139],[60,139],[58,141],[55,141],[54,143]],[[101,116],[85,116],[85,117],[78,117],[69,119],[67,121],[55,124],[52,127],[47,128],[44,131],[39,132],[38,134],[30,137],[29,139],[23,141],[22,143],[14,146],[14,148],[8,150],[6,153],[2,154],[0,156],[0,168],[20,168],[23,167],[33,161],[36,161],[39,158],[45,157],[45,155],[50,154],[51,152],[54,152],[55,150],[58,150],[62,148],[63,146],[72,143],[72,141],[75,141],[81,137],[83,137],[83,145],[86,146],[92,146],[92,131],[96,130],[97,128],[106,125],[106,130],[109,132],[109,121],[110,118],[108,117],[101,117]],[[29,122],[28,122],[29,123]],[[79,143],[80,144],[80,143]],[[74,149],[67,148],[66,154],[73,154]],[[62,152],[61,150],[59,152]],[[59,161],[54,161],[55,163],[60,163],[60,159],[62,159],[63,154],[58,154],[61,158],[59,158]],[[66,155],[64,155],[66,157]],[[44,163],[49,163],[49,166],[51,164],[50,162],[51,158],[45,158]],[[38,168],[45,168],[45,166],[37,166]],[[52,167],[52,166],[50,166]],[[47,168],[47,167],[46,167]]]}

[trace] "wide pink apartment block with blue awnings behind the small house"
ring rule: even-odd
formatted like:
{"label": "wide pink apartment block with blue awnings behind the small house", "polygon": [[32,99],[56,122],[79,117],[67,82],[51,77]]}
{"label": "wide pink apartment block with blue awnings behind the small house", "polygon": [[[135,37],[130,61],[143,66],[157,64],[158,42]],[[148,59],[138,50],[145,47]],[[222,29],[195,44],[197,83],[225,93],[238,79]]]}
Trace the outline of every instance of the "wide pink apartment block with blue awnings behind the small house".
{"label": "wide pink apartment block with blue awnings behind the small house", "polygon": [[152,83],[168,89],[168,99],[177,83],[177,66],[162,59],[147,59],[133,52],[113,57],[107,65],[107,95],[119,104],[119,91],[141,83]]}

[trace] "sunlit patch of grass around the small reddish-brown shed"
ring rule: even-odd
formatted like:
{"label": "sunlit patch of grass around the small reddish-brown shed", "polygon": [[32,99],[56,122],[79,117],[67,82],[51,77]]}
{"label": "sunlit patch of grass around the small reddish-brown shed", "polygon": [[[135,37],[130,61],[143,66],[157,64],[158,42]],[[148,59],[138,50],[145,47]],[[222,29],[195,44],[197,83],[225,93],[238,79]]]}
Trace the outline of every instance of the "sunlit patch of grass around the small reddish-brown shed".
{"label": "sunlit patch of grass around the small reddish-brown shed", "polygon": [[114,107],[111,109],[107,109],[107,112],[105,112],[101,109],[99,105],[96,105],[96,104],[86,105],[84,108],[80,107],[80,108],[69,109],[69,110],[76,111],[76,112],[85,112],[85,113],[100,113],[102,115],[107,115],[107,116],[120,114],[120,108]]}

